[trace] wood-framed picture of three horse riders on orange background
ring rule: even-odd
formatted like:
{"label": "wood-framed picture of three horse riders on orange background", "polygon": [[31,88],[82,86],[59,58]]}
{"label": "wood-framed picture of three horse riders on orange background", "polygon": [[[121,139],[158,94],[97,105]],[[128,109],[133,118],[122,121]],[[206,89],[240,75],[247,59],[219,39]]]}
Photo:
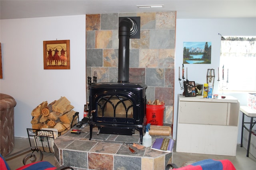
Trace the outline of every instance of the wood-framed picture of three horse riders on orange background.
{"label": "wood-framed picture of three horse riders on orange background", "polygon": [[44,41],[44,69],[70,69],[70,40]]}

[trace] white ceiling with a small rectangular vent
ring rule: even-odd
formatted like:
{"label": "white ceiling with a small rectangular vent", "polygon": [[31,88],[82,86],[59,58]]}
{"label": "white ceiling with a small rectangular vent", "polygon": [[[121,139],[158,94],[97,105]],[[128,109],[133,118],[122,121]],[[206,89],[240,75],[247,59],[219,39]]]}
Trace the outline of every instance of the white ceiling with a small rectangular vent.
{"label": "white ceiling with a small rectangular vent", "polygon": [[[136,5],[163,4],[138,9]],[[0,19],[177,11],[177,18],[256,18],[256,0],[0,0]]]}

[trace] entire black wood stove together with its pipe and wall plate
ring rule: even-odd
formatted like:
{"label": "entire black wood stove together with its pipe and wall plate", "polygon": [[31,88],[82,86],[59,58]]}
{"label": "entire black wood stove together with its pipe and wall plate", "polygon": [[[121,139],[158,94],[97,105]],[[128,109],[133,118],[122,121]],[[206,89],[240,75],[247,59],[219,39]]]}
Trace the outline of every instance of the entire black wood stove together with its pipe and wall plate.
{"label": "entire black wood stove together with its pipe and wall plate", "polygon": [[140,38],[140,17],[119,18],[118,82],[89,86],[90,139],[97,126],[97,134],[132,135],[138,130],[142,143],[147,86],[129,82],[130,38]]}

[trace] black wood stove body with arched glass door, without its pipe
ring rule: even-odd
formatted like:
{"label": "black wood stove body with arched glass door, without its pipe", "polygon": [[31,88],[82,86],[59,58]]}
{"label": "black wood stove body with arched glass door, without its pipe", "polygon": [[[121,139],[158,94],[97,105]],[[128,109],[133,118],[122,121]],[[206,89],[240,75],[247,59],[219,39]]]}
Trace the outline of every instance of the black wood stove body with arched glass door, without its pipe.
{"label": "black wood stove body with arched glass door, without its pipe", "polygon": [[146,111],[146,85],[96,83],[90,89],[90,139],[92,128],[98,133],[132,135],[140,132],[142,143]]}

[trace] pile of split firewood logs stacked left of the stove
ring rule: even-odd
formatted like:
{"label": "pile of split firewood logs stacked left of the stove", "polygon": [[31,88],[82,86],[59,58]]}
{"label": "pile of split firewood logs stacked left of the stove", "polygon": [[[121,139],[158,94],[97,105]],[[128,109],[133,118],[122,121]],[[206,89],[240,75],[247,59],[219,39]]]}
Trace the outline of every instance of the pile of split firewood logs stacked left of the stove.
{"label": "pile of split firewood logs stacked left of the stove", "polygon": [[[71,128],[73,116],[76,111],[72,110],[74,106],[66,97],[48,104],[47,101],[42,102],[33,109],[31,115],[33,117],[31,124],[32,129],[55,128],[58,133],[63,134]],[[78,117],[73,120],[77,123]]]}

